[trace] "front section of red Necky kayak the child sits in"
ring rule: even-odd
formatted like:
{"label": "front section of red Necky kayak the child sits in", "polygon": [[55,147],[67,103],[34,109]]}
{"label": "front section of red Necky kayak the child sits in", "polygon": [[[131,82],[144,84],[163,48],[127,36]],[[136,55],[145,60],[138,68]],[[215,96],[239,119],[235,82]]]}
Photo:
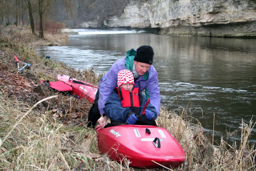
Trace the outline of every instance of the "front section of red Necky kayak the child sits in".
{"label": "front section of red Necky kayak the child sits in", "polygon": [[[177,167],[185,159],[179,142],[163,127],[148,125],[119,125],[102,129],[96,126],[98,146],[102,154],[121,163],[123,157],[132,167]],[[159,165],[159,164],[161,165]]]}

